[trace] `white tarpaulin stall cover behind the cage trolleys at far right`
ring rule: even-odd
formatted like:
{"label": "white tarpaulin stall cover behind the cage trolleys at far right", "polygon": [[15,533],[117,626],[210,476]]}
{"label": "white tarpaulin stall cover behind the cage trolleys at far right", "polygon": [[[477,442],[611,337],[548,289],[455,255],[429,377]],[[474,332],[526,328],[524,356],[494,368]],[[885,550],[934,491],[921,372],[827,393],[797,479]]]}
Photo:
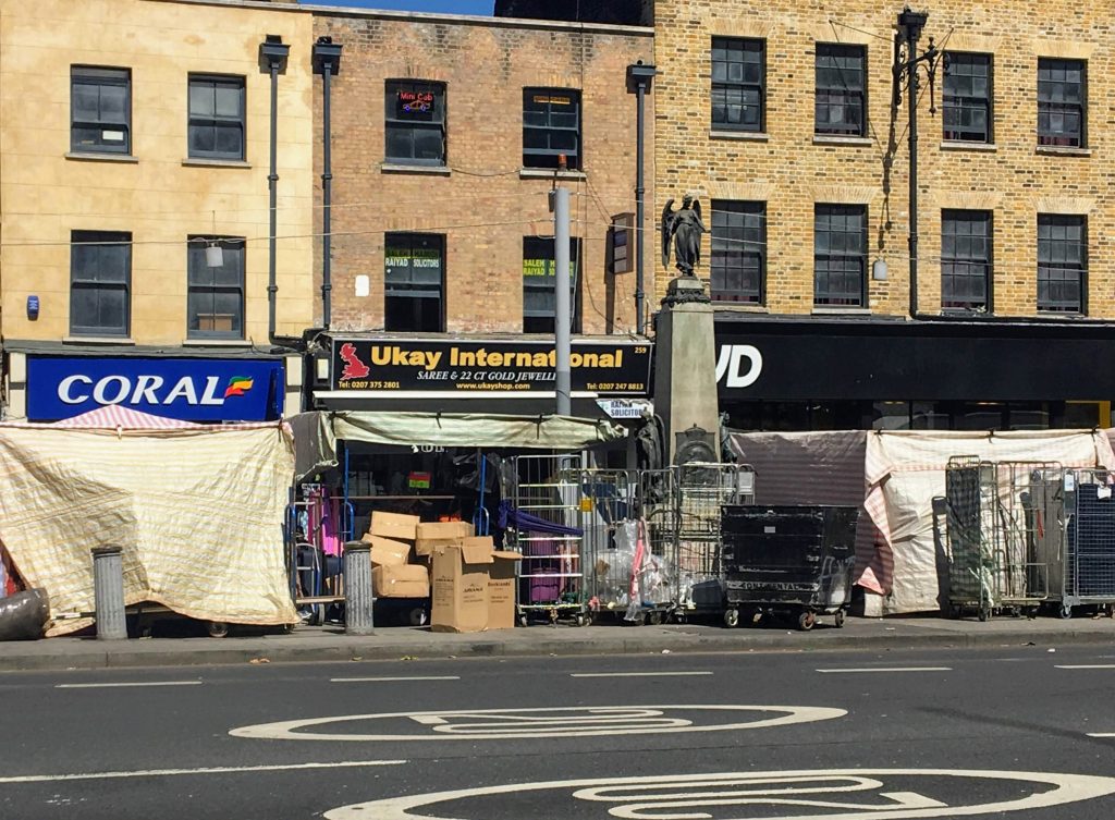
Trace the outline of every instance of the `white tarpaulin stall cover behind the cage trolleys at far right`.
{"label": "white tarpaulin stall cover behind the cage trolleys at far right", "polygon": [[885,615],[939,608],[932,500],[944,495],[946,465],[956,455],[999,463],[1115,467],[1115,453],[1102,431],[869,434],[865,508],[883,543],[859,582],[885,596]]}

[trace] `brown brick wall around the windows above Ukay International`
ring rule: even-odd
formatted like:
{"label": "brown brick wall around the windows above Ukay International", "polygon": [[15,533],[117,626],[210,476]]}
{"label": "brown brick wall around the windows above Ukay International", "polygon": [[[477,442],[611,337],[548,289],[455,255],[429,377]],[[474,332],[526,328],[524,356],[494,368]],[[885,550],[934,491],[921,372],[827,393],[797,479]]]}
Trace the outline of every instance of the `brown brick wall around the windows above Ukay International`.
{"label": "brown brick wall around the windows above Ukay International", "polygon": [[[332,97],[333,329],[384,327],[384,234],[414,231],[446,237],[447,330],[522,331],[523,237],[553,233],[550,179],[522,172],[525,86],[582,90],[584,174],[563,185],[572,234],[582,239],[583,329],[634,327],[634,274],[613,284],[604,254],[610,216],[634,211],[636,102],[624,77],[629,64],[652,59],[649,29],[359,12],[321,15],[314,25],[345,49]],[[446,84],[447,173],[384,167],[385,81],[401,78]],[[649,134],[647,145],[651,181]],[[648,190],[648,228],[652,196]],[[319,286],[320,276],[319,244]],[[356,295],[358,276],[369,277],[366,297]]]}

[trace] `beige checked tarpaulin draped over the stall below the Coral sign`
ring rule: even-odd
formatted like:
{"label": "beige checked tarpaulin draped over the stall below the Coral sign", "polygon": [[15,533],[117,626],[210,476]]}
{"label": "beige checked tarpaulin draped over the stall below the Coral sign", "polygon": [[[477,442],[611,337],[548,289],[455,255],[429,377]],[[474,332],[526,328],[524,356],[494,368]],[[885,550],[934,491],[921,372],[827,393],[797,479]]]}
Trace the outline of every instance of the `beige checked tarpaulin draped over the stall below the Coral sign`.
{"label": "beige checked tarpaulin draped over the stall below the Coral sign", "polygon": [[[51,616],[94,609],[90,548],[124,548],[126,604],[203,620],[297,620],[282,522],[282,424],[183,430],[0,425],[0,540]],[[55,620],[48,635],[88,619]]]}

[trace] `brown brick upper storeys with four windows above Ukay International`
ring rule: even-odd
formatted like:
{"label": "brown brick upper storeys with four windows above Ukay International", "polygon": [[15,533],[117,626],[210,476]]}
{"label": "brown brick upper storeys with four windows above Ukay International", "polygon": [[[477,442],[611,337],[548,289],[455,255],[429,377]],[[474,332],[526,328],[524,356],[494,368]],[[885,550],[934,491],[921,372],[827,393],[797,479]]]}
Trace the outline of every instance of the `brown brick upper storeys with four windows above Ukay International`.
{"label": "brown brick upper storeys with four windows above Ukay International", "polygon": [[[314,27],[343,48],[331,99],[333,330],[552,332],[559,153],[574,331],[636,328],[634,277],[612,276],[608,239],[612,216],[636,210],[626,69],[651,61],[650,29],[320,8]],[[648,181],[651,144],[648,134]],[[647,202],[650,225],[649,191]]]}

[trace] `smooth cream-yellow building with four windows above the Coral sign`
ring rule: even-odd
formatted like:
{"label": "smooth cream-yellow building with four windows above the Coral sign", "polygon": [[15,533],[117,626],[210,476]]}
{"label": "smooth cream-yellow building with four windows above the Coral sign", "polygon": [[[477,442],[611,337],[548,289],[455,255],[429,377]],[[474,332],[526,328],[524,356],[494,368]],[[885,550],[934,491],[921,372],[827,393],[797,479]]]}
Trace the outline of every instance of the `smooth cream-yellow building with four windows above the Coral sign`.
{"label": "smooth cream-yellow building with four windows above the Coral sign", "polygon": [[[274,330],[310,325],[311,21],[279,3],[0,2],[9,417],[25,416],[37,389],[32,354],[270,355],[269,37],[290,47],[278,81]],[[288,376],[295,396],[300,368]]]}

